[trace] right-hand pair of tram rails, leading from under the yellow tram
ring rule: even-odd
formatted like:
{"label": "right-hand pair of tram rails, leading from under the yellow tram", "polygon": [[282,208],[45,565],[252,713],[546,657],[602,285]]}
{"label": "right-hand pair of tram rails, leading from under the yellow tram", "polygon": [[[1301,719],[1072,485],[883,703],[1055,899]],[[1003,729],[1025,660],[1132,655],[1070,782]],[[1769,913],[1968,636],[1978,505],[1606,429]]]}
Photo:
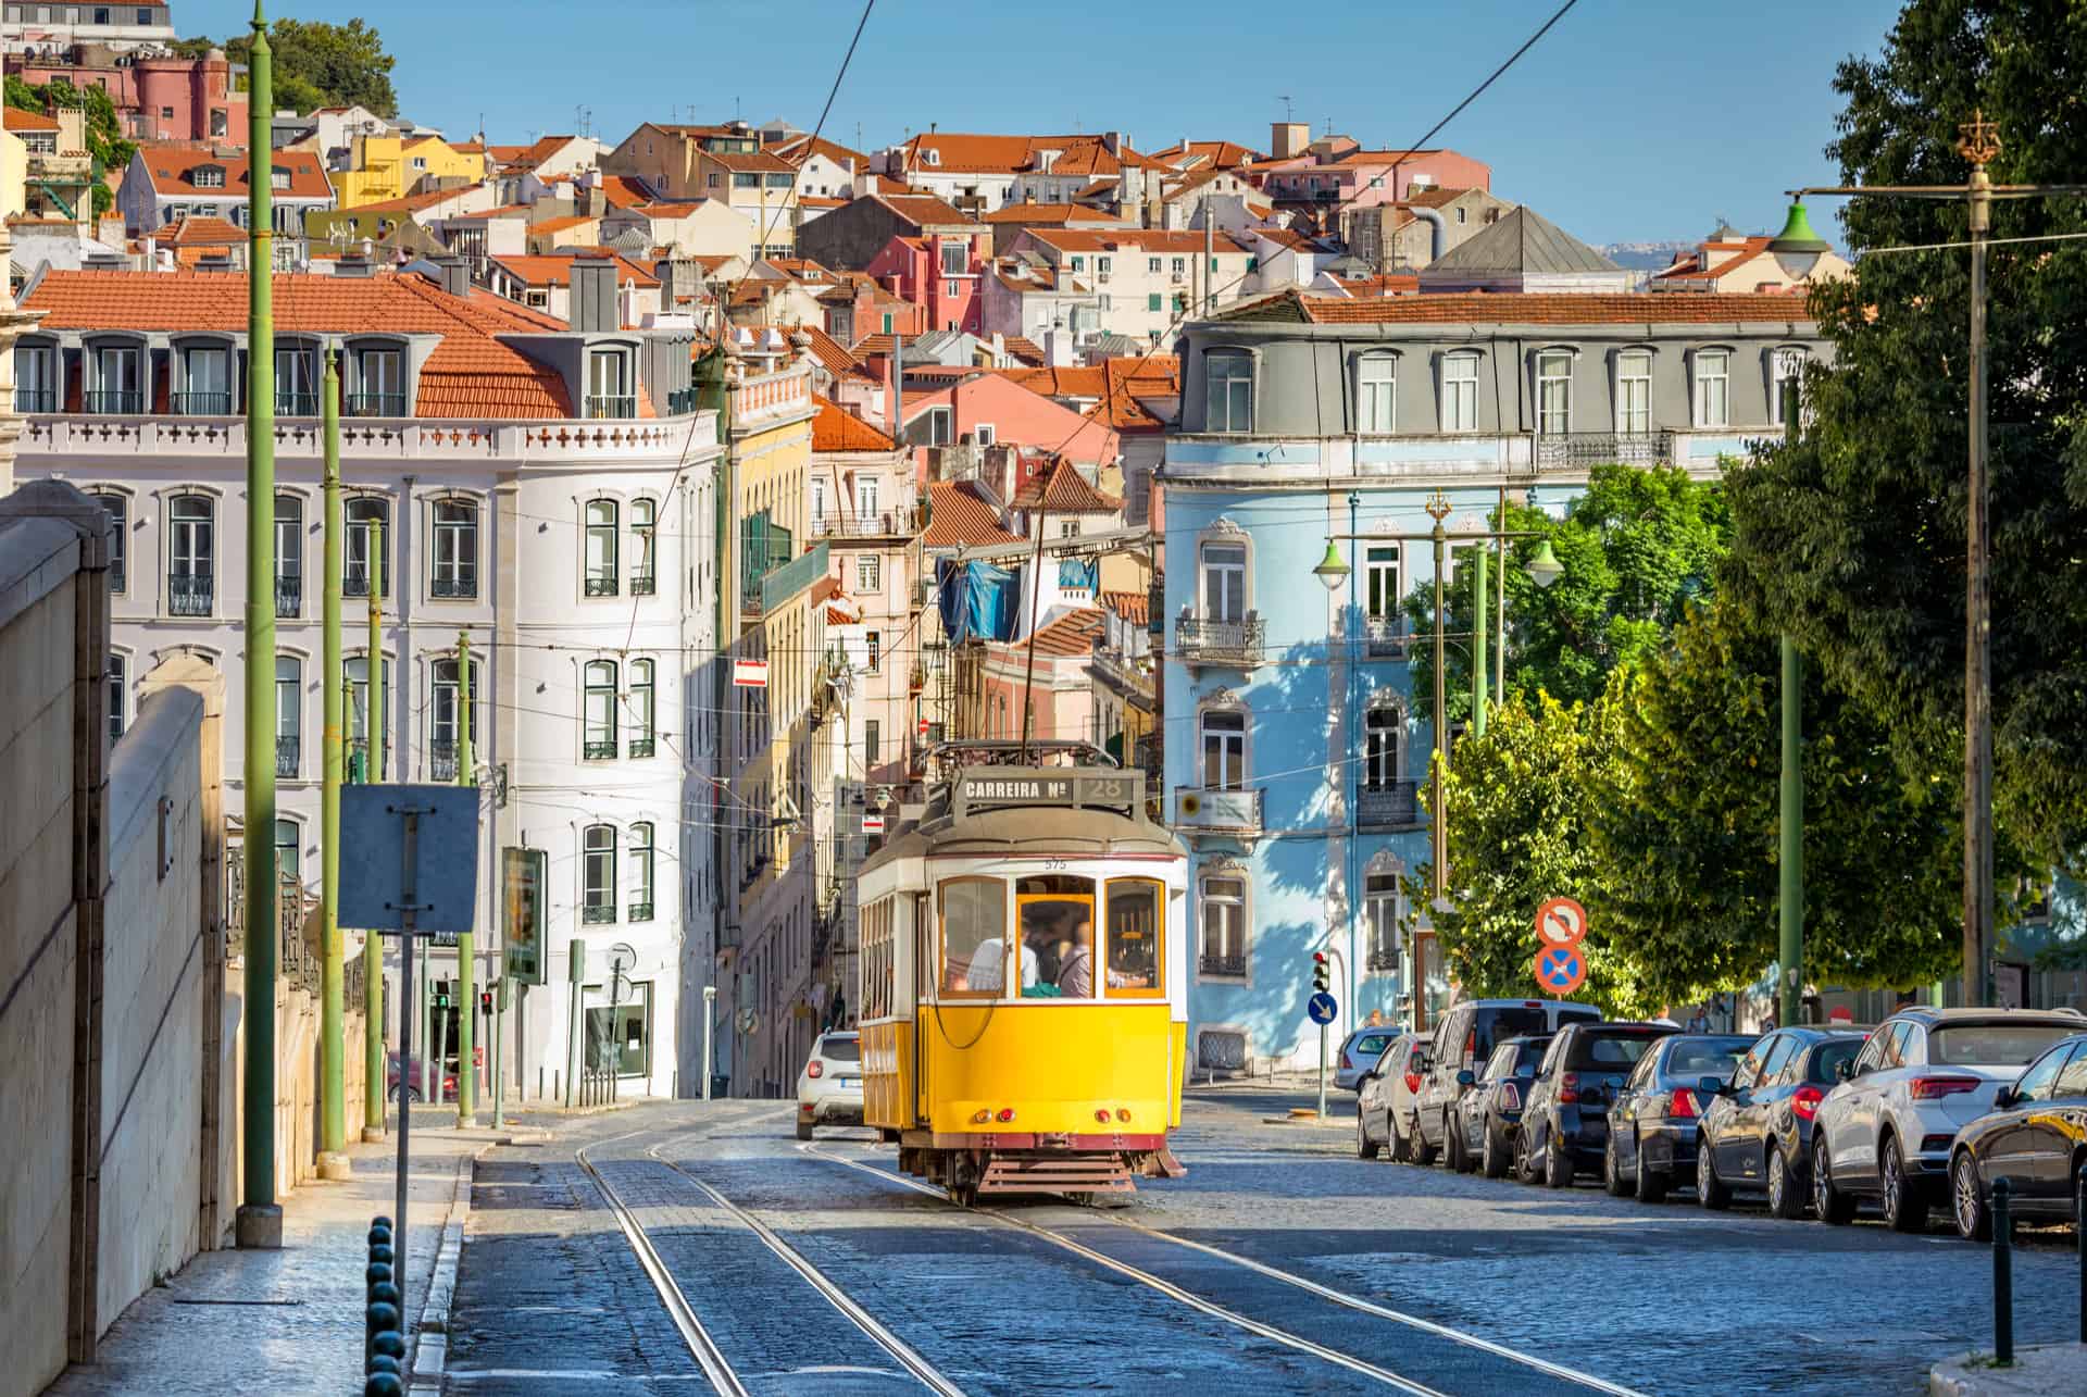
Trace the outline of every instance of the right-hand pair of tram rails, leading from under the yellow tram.
{"label": "right-hand pair of tram rails, leading from under the yellow tram", "polygon": [[[906,1178],[902,1174],[893,1174],[891,1169],[881,1169],[877,1165],[862,1163],[858,1159],[843,1159],[839,1155],[829,1155],[829,1153],[824,1153],[824,1151],[820,1151],[820,1149],[816,1149],[812,1144],[799,1144],[797,1151],[803,1153],[806,1157],[820,1159],[824,1163],[843,1165],[847,1169],[858,1169],[858,1171],[868,1174],[872,1178],[881,1178],[885,1182],[899,1184],[904,1188],[910,1188],[914,1192],[927,1194],[931,1199],[947,1199],[945,1190],[935,1188],[931,1184],[922,1184],[920,1180]],[[1077,1240],[1073,1236],[1066,1236],[1064,1232],[1058,1232],[1056,1228],[1046,1228],[1044,1224],[1029,1222],[1025,1217],[1014,1217],[1014,1215],[1010,1215],[1010,1213],[1006,1213],[1002,1209],[995,1209],[995,1207],[977,1207],[975,1205],[975,1207],[970,1207],[966,1211],[979,1213],[981,1217],[989,1217],[989,1220],[993,1220],[993,1222],[998,1222],[1002,1226],[1014,1228],[1018,1232],[1029,1232],[1031,1236],[1044,1238],[1044,1240],[1052,1242],[1054,1247],[1071,1251],[1073,1255],[1079,1255],[1079,1257],[1083,1257],[1083,1259],[1087,1259],[1087,1261],[1092,1261],[1096,1265],[1102,1265],[1102,1268],[1106,1268],[1106,1270],[1110,1270],[1110,1272],[1114,1272],[1119,1276],[1125,1276],[1125,1278],[1129,1278],[1129,1280],[1133,1280],[1133,1282],[1137,1282],[1142,1286],[1158,1291],[1160,1295],[1167,1295],[1169,1299],[1175,1299],[1175,1301],[1179,1301],[1179,1303],[1183,1303],[1183,1305],[1188,1305],[1192,1309],[1198,1309],[1198,1311],[1202,1311],[1202,1313],[1206,1313],[1210,1318],[1217,1318],[1217,1320],[1223,1320],[1223,1322],[1233,1324],[1238,1328],[1244,1328],[1244,1330],[1248,1330],[1252,1334],[1258,1334],[1263,1339],[1271,1339],[1271,1341],[1281,1343],[1281,1345],[1286,1345],[1290,1349],[1298,1349],[1302,1353],[1311,1353],[1313,1357],[1321,1357],[1325,1362],[1338,1364],[1342,1368],[1348,1368],[1350,1372],[1359,1372],[1363,1376],[1369,1376],[1369,1378],[1373,1378],[1377,1382],[1384,1382],[1388,1387],[1394,1387],[1398,1391],[1407,1391],[1407,1393],[1434,1393],[1436,1397],[1442,1397],[1438,1389],[1425,1387],[1425,1384],[1421,1384],[1421,1382],[1417,1382],[1417,1380],[1413,1380],[1413,1378],[1409,1378],[1405,1374],[1398,1374],[1398,1372],[1392,1372],[1392,1370],[1386,1370],[1386,1368],[1377,1368],[1375,1364],[1369,1364],[1367,1359],[1354,1357],[1352,1353],[1344,1353],[1340,1349],[1332,1349],[1332,1347],[1321,1345],[1321,1343],[1317,1343],[1313,1339],[1304,1339],[1302,1334],[1294,1334],[1290,1330],[1281,1330],[1281,1328],[1275,1328],[1275,1326],[1265,1324],[1261,1320],[1254,1320],[1250,1316],[1238,1313],[1236,1309],[1229,1309],[1225,1305],[1208,1301],[1208,1299],[1204,1299],[1204,1297],[1200,1297],[1200,1295],[1196,1295],[1196,1293],[1192,1293],[1192,1291],[1188,1291],[1188,1288],[1183,1288],[1183,1286],[1179,1286],[1179,1284],[1175,1284],[1175,1282],[1171,1282],[1171,1280],[1167,1280],[1162,1276],[1154,1276],[1152,1272],[1146,1272],[1146,1270],[1142,1270],[1137,1265],[1131,1265],[1129,1261],[1123,1261],[1119,1257],[1110,1257],[1104,1251],[1087,1247],[1085,1242],[1081,1242],[1081,1240]],[[1578,1389],[1584,1389],[1584,1391],[1605,1393],[1607,1397],[1645,1397],[1636,1389],[1624,1387],[1620,1382],[1611,1382],[1607,1378],[1599,1378],[1594,1374],[1580,1372],[1580,1370],[1567,1368],[1563,1364],[1555,1364],[1555,1362],[1538,1357],[1534,1353],[1521,1353],[1519,1349],[1513,1349],[1509,1345],[1494,1343],[1490,1339],[1480,1339],[1478,1334],[1469,1334],[1465,1330],[1457,1330],[1457,1328],[1450,1328],[1446,1324],[1438,1324],[1434,1320],[1425,1320],[1421,1316],[1405,1313],[1405,1311],[1392,1309],[1388,1305],[1377,1305],[1373,1301],[1365,1301],[1365,1299],[1354,1297],[1354,1295],[1344,1295],[1342,1291],[1336,1291],[1332,1286],[1319,1284],[1317,1280],[1311,1280],[1306,1276],[1298,1276],[1294,1272],[1286,1272],[1286,1270],[1267,1265],[1263,1261],[1254,1261],[1252,1257],[1242,1257],[1242,1255],[1225,1251],[1221,1247],[1210,1247],[1206,1242],[1196,1242],[1196,1240],[1185,1238],[1185,1236],[1175,1236],[1173,1232],[1165,1232],[1160,1228],[1150,1228],[1150,1226],[1146,1226],[1142,1222],[1129,1222],[1129,1220],[1123,1220],[1123,1217],[1112,1217],[1110,1213],[1104,1213],[1104,1211],[1098,1211],[1098,1209],[1089,1209],[1089,1211],[1092,1211],[1092,1215],[1098,1222],[1106,1222],[1110,1226],[1137,1232],[1137,1234],[1148,1236],[1152,1240],[1171,1242],[1175,1247],[1183,1247],[1183,1249],[1208,1255],[1208,1257],[1213,1257],[1217,1261],[1225,1261],[1229,1265],[1242,1268],[1242,1270],[1252,1272],[1256,1276],[1263,1276],[1267,1280],[1275,1280],[1275,1282],[1281,1282],[1286,1286],[1294,1286],[1298,1291],[1315,1295],[1315,1297],[1319,1297],[1319,1299],[1323,1299],[1327,1303],[1340,1305],[1344,1309],[1354,1309],[1359,1313],[1367,1313],[1367,1316],[1377,1318],[1377,1320],[1388,1320],[1392,1324],[1400,1324],[1400,1326],[1407,1326],[1407,1328],[1432,1334],[1436,1339],[1455,1343],[1459,1347],[1473,1349],[1478,1353],[1486,1353],[1486,1355],[1503,1359],[1507,1364],[1515,1364],[1517,1368],[1526,1368],[1526,1370],[1530,1370],[1534,1374],[1544,1374],[1544,1376],[1549,1376],[1549,1378],[1553,1378],[1557,1382],[1565,1382],[1565,1384],[1572,1384],[1572,1387],[1578,1387]]]}

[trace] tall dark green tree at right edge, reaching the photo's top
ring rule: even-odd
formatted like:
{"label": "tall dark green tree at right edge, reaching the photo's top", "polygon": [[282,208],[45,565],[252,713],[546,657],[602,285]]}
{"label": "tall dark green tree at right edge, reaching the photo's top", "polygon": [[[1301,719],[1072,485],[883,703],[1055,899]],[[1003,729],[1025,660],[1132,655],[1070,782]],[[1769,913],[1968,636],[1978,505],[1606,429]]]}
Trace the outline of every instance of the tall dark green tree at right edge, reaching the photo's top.
{"label": "tall dark green tree at right edge, reaching the photo's top", "polygon": [[[1841,65],[1828,146],[1849,184],[1962,182],[1958,123],[1997,123],[1997,184],[2087,180],[2087,23],[2052,0],[1914,0]],[[1953,200],[1855,198],[1849,244],[1962,244]],[[1995,814],[2052,865],[2087,850],[2087,198],[1993,205],[1991,587]],[[1812,297],[1832,340],[1812,426],[1730,478],[1720,587],[1791,631],[1887,725],[1910,775],[1964,733],[1968,257],[1860,257]]]}

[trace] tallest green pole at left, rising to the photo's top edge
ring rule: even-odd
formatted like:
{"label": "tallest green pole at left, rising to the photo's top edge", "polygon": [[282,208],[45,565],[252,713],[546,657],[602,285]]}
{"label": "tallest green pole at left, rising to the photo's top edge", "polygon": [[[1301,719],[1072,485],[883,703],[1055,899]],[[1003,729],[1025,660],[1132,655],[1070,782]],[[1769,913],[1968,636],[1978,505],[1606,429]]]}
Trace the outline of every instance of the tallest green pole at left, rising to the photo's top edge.
{"label": "tallest green pole at left, rising to the photo's top edge", "polygon": [[[255,0],[248,150],[269,150],[273,54]],[[246,190],[246,1082],[240,1247],[282,1247],[275,1205],[275,305],[273,196]]]}

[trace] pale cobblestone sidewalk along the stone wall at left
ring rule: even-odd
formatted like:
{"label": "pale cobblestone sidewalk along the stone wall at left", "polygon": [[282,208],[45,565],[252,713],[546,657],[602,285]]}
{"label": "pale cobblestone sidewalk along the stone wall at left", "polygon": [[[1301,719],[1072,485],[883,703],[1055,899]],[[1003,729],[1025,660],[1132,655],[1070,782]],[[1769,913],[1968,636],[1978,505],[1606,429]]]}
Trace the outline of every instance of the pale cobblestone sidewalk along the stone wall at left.
{"label": "pale cobblestone sidewalk along the stone wall at left", "polygon": [[[493,1140],[482,1130],[424,1126],[419,1111],[413,1117],[409,1324],[428,1299],[442,1224],[467,1199],[472,1155]],[[284,1199],[282,1251],[194,1257],[125,1309],[102,1334],[98,1359],[67,1370],[46,1397],[359,1393],[367,1232],[374,1215],[394,1211],[394,1149],[390,1140],[351,1144],[351,1180],[305,1184]]]}

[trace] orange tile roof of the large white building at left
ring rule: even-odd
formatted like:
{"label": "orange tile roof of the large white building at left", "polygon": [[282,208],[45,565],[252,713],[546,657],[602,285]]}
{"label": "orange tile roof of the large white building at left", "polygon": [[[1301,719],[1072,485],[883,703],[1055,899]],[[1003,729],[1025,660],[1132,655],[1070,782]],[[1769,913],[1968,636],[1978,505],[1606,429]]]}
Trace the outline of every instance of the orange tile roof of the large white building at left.
{"label": "orange tile roof of the large white building at left", "polygon": [[[246,330],[244,271],[50,271],[23,309],[44,330]],[[520,309],[520,307],[515,307]],[[555,322],[551,322],[555,324]],[[296,334],[438,334],[419,372],[422,418],[570,418],[566,382],[503,345],[543,317],[495,297],[445,294],[417,274],[278,276],[275,328]],[[563,328],[563,326],[559,326]]]}

